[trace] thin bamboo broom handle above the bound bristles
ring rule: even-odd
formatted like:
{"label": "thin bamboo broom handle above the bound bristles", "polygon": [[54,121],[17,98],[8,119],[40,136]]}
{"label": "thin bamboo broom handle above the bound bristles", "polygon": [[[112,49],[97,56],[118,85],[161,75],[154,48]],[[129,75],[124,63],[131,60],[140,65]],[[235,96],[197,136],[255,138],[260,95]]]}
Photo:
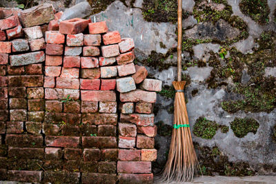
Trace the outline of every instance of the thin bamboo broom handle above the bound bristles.
{"label": "thin bamboo broom handle above the bound bristles", "polygon": [[177,81],[181,81],[182,0],[177,2]]}

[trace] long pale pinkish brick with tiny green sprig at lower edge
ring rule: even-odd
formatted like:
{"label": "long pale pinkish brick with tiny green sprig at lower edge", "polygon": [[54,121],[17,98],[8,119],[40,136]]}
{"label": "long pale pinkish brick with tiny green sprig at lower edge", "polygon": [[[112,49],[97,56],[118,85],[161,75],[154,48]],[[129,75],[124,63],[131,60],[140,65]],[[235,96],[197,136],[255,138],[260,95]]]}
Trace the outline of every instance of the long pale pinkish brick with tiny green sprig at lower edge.
{"label": "long pale pinkish brick with tiny green sprig at lower edge", "polygon": [[55,88],[46,88],[45,89],[45,99],[48,100],[61,100],[66,99],[70,95],[70,99],[79,99],[79,90],[70,90],[70,89],[55,89]]}

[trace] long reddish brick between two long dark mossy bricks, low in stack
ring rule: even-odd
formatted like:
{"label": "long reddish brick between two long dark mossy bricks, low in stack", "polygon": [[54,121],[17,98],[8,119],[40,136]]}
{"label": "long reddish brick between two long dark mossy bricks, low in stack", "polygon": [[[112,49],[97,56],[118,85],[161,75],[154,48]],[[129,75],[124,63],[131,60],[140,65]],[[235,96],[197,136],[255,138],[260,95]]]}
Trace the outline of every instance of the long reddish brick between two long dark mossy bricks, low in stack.
{"label": "long reddish brick between two long dark mossy bricks, low in stack", "polygon": [[52,147],[77,147],[79,145],[78,136],[46,136],[46,146]]}

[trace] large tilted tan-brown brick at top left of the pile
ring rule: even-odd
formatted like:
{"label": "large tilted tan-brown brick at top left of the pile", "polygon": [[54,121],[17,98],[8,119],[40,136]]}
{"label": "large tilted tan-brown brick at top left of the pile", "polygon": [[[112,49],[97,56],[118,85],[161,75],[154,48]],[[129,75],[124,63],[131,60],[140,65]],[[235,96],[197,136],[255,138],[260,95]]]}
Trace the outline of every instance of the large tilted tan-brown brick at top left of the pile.
{"label": "large tilted tan-brown brick at top left of the pile", "polygon": [[20,19],[25,28],[41,25],[54,19],[54,11],[52,4],[43,3],[39,6],[23,10]]}

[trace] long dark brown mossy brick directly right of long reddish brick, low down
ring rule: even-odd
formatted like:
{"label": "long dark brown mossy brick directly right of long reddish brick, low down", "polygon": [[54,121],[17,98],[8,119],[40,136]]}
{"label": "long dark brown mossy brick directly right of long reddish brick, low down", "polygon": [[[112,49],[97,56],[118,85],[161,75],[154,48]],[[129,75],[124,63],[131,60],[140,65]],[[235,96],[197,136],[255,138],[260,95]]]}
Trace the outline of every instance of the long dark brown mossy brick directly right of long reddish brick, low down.
{"label": "long dark brown mossy brick directly right of long reddish brick, low down", "polygon": [[84,148],[116,148],[117,140],[116,137],[112,136],[83,136],[82,144]]}

